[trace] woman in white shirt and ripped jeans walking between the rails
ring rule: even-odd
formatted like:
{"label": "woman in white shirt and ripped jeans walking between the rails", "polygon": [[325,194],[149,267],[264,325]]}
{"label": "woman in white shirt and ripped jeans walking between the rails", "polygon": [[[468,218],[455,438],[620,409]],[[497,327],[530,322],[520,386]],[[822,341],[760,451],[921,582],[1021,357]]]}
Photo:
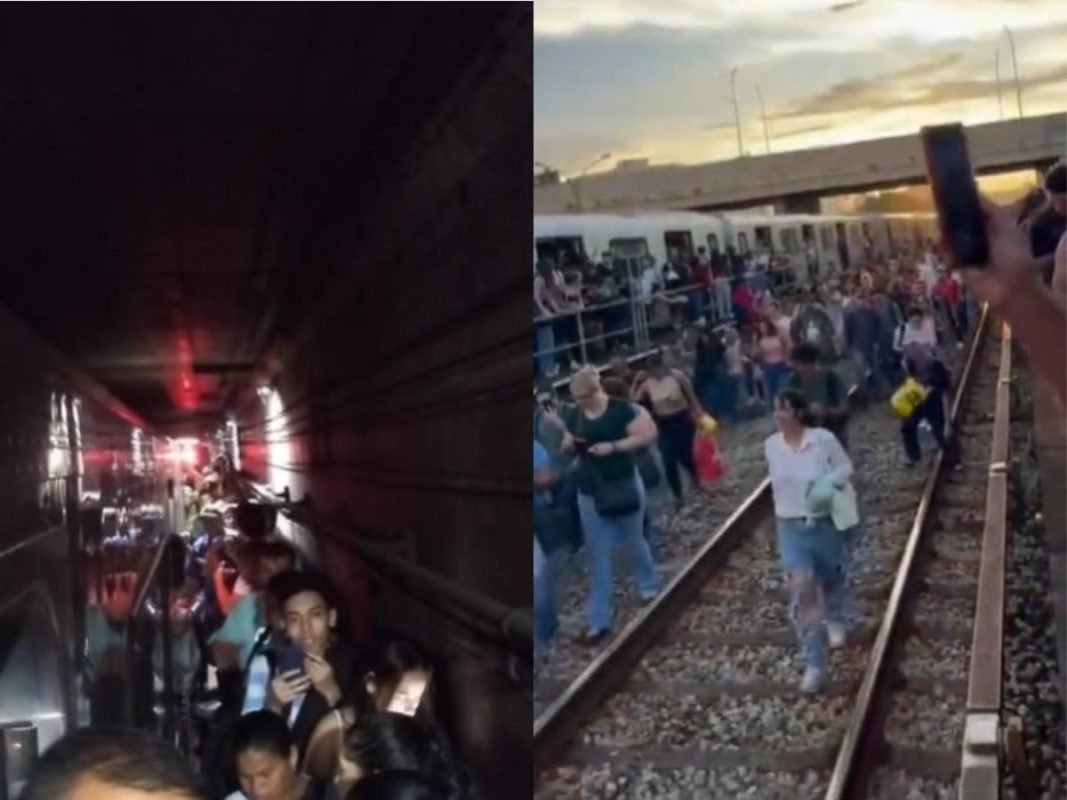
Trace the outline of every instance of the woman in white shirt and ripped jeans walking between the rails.
{"label": "woman in white shirt and ripped jeans walking between the rails", "polygon": [[[790,615],[800,639],[800,689],[827,683],[826,640],[845,643],[845,533],[830,517],[830,498],[844,489],[853,463],[830,431],[803,421],[808,401],[792,389],[775,400],[778,433],[764,443],[778,528],[778,555],[792,593]],[[825,631],[825,637],[824,637]]]}

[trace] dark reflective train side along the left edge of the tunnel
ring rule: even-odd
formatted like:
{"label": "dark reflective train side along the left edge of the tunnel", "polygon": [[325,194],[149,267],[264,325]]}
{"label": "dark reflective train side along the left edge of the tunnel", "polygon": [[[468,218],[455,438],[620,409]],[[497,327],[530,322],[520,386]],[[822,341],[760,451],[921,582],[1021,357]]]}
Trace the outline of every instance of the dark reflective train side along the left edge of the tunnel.
{"label": "dark reflective train side along the left edge of the tunnel", "polygon": [[44,750],[77,723],[75,503],[127,470],[141,423],[2,308],[0,374],[0,724],[33,722]]}

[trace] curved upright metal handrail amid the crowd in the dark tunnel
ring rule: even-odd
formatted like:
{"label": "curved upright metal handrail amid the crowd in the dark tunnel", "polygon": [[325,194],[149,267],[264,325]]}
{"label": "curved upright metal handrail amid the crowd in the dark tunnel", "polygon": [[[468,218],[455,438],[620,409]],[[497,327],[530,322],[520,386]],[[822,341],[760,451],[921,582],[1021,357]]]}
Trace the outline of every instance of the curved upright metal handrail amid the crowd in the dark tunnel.
{"label": "curved upright metal handrail amid the crowd in the dark tunnel", "polygon": [[[152,590],[159,585],[159,605],[162,609],[159,614],[159,635],[162,641],[163,658],[163,737],[171,739],[174,736],[174,646],[171,640],[171,588],[174,576],[171,573],[172,559],[170,549],[177,542],[185,547],[185,540],[177,533],[165,533],[156,545],[152,562],[147,570],[138,577],[138,592],[130,606],[129,615],[126,618],[126,656],[128,659],[128,690],[129,710],[136,715],[138,705],[138,693],[141,688],[138,682],[138,622],[147,606]],[[162,571],[162,572],[161,572]],[[159,578],[162,577],[162,580]],[[154,681],[153,681],[154,684]],[[153,703],[152,707],[155,707]]]}

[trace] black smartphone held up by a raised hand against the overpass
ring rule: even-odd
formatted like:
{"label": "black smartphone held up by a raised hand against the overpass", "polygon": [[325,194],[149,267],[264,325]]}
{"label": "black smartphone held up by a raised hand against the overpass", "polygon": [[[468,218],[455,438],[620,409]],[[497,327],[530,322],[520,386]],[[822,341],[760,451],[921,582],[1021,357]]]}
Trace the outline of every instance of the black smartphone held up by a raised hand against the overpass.
{"label": "black smartphone held up by a raised hand against the overpass", "polygon": [[989,261],[986,218],[964,126],[934,125],[923,128],[920,137],[942,239],[956,265],[985,267]]}

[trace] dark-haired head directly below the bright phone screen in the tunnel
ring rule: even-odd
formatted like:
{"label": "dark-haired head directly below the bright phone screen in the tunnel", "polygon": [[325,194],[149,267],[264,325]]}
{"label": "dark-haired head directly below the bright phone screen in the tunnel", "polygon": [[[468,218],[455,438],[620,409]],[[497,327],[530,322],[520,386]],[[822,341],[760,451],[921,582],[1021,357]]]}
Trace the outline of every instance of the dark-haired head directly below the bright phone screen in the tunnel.
{"label": "dark-haired head directly below the bright phone screen in the tunnel", "polygon": [[343,771],[359,780],[391,769],[439,774],[442,758],[423,725],[402,714],[367,714],[345,737]]}

